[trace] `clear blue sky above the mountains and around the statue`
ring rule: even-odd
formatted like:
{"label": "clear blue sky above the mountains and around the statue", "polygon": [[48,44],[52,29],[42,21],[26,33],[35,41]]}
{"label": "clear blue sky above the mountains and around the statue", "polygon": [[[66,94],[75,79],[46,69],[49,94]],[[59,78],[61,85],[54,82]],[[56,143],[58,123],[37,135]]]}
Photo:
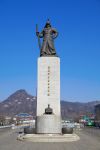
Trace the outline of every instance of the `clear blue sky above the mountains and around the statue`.
{"label": "clear blue sky above the mountains and around the statue", "polygon": [[0,0],[0,100],[19,89],[36,94],[39,31],[59,31],[61,99],[100,100],[100,0]]}

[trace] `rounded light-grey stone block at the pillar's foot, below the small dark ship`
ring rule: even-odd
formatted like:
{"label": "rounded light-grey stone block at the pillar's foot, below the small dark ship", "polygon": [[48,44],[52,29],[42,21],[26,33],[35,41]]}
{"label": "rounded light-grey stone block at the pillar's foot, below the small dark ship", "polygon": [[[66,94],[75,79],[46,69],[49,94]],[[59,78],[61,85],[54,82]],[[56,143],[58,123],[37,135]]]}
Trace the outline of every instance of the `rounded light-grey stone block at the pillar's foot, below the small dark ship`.
{"label": "rounded light-grey stone block at the pillar's foot, below the small dark ship", "polygon": [[36,118],[37,134],[61,134],[61,118],[56,115],[41,115]]}

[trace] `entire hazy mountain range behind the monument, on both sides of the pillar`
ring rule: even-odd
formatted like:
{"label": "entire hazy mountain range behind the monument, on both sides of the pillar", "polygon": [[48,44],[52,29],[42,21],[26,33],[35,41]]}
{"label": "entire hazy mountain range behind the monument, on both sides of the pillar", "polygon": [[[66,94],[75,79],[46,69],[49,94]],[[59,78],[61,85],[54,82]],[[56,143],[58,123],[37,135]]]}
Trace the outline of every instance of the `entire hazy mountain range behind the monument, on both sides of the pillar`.
{"label": "entire hazy mountain range behind the monument, on both sides of the pillar", "polygon": [[[93,113],[94,106],[100,101],[88,103],[61,101],[61,112],[63,118],[77,118],[80,115]],[[36,116],[36,96],[28,94],[21,89],[10,95],[0,103],[0,114],[14,116],[18,113],[26,112]]]}

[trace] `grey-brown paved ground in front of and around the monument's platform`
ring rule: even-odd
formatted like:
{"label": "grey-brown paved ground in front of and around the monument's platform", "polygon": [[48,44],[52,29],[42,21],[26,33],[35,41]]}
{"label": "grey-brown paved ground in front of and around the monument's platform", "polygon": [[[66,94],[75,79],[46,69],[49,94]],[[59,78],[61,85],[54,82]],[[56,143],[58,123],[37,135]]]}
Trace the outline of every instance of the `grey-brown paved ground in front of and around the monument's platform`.
{"label": "grey-brown paved ground in front of and around the monument's platform", "polygon": [[100,150],[100,129],[76,131],[79,141],[67,143],[32,143],[16,140],[15,130],[0,131],[0,150]]}

